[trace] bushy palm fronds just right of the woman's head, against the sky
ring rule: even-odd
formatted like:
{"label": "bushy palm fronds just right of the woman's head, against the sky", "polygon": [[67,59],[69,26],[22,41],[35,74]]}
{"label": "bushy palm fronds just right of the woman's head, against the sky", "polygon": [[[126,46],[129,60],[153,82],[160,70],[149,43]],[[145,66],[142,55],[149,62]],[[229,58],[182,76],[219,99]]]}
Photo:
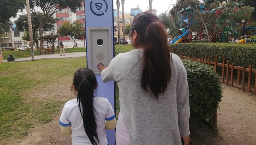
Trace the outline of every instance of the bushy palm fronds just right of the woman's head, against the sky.
{"label": "bushy palm fronds just right of the woman's head, against the sky", "polygon": [[178,35],[179,27],[175,25],[175,20],[169,17],[169,13],[163,12],[159,15],[159,18],[172,38]]}

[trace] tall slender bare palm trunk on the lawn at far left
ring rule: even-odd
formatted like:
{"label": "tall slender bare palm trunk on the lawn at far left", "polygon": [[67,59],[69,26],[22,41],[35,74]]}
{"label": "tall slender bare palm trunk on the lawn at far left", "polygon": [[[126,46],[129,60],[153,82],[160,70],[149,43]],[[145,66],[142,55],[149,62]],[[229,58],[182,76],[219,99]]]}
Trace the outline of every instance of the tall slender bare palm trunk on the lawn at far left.
{"label": "tall slender bare palm trunk on the lawn at far left", "polygon": [[34,46],[34,41],[33,41],[33,33],[32,33],[32,22],[31,22],[31,15],[30,15],[29,0],[26,0],[26,11],[27,11],[27,19],[28,19],[31,56],[32,56],[32,61],[34,61],[34,47],[33,47]]}

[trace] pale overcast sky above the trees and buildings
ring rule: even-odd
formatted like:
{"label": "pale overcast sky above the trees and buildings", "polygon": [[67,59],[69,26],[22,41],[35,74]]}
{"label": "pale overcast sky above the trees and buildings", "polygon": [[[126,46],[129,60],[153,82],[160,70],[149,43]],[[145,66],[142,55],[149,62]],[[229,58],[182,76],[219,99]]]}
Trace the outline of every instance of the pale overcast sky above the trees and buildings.
{"label": "pale overcast sky above the trees and buildings", "polygon": [[[162,12],[165,12],[167,10],[170,10],[170,8],[173,6],[173,4],[176,3],[177,0],[153,0],[152,2],[152,9],[157,10],[157,15],[159,15]],[[114,3],[114,9],[117,8],[116,4],[117,0],[113,0]],[[132,8],[138,7],[142,11],[146,11],[149,9],[149,2],[148,0],[125,0],[124,1],[124,12],[130,12]],[[120,0],[120,11],[121,11],[121,0]],[[38,11],[40,11],[40,8],[38,8]],[[26,10],[23,11],[23,13],[19,12],[19,15],[26,14]],[[17,18],[11,18],[11,21],[14,22]]]}

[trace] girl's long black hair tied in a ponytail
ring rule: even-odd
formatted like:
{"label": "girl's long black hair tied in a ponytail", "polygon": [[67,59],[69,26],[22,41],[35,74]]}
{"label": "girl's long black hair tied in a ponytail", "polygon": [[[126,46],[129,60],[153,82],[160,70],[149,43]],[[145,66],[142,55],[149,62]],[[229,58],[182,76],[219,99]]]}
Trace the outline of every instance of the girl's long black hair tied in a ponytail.
{"label": "girl's long black hair tied in a ponytail", "polygon": [[93,98],[98,83],[94,72],[88,68],[78,69],[74,74],[73,85],[77,90],[77,104],[83,118],[84,130],[91,144],[97,145],[99,139],[93,110]]}

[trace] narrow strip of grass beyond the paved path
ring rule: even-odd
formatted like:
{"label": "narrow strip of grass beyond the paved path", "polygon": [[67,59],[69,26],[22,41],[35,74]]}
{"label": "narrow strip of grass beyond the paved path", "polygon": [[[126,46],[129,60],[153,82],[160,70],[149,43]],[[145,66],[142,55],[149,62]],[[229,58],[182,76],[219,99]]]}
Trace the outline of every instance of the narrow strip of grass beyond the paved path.
{"label": "narrow strip of grass beyond the paved path", "polygon": [[[66,49],[65,49],[66,50]],[[68,48],[68,53],[72,52],[85,52],[86,49],[84,47],[78,47],[78,48]],[[31,51],[2,51],[4,59],[7,59],[9,54],[12,54],[12,56],[16,58],[27,58],[31,56]],[[57,49],[55,53],[60,53],[60,49]],[[43,52],[44,54],[44,52]],[[40,51],[34,51],[34,55],[40,55]]]}

